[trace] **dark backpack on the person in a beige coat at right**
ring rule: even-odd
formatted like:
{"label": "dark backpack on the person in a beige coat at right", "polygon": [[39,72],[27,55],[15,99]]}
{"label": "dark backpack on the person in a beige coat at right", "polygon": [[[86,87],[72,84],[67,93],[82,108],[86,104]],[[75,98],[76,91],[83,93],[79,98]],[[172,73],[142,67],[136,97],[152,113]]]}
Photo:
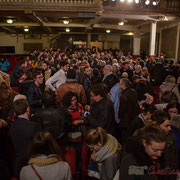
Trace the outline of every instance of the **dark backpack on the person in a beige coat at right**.
{"label": "dark backpack on the person in a beige coat at right", "polygon": [[174,86],[170,91],[165,91],[162,94],[161,103],[169,103],[171,101],[178,101],[177,95],[174,92],[172,92],[175,87],[176,86]]}

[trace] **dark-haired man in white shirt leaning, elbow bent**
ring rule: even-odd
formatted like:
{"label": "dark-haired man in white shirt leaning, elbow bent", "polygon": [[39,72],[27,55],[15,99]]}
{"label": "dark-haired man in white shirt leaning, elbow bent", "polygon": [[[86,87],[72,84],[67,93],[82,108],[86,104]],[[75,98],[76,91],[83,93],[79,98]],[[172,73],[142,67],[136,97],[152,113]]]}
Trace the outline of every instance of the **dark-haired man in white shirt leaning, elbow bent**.
{"label": "dark-haired man in white shirt leaning, elbow bent", "polygon": [[66,72],[68,68],[69,63],[67,61],[60,61],[60,70],[46,81],[46,86],[55,92],[61,84],[66,82]]}

